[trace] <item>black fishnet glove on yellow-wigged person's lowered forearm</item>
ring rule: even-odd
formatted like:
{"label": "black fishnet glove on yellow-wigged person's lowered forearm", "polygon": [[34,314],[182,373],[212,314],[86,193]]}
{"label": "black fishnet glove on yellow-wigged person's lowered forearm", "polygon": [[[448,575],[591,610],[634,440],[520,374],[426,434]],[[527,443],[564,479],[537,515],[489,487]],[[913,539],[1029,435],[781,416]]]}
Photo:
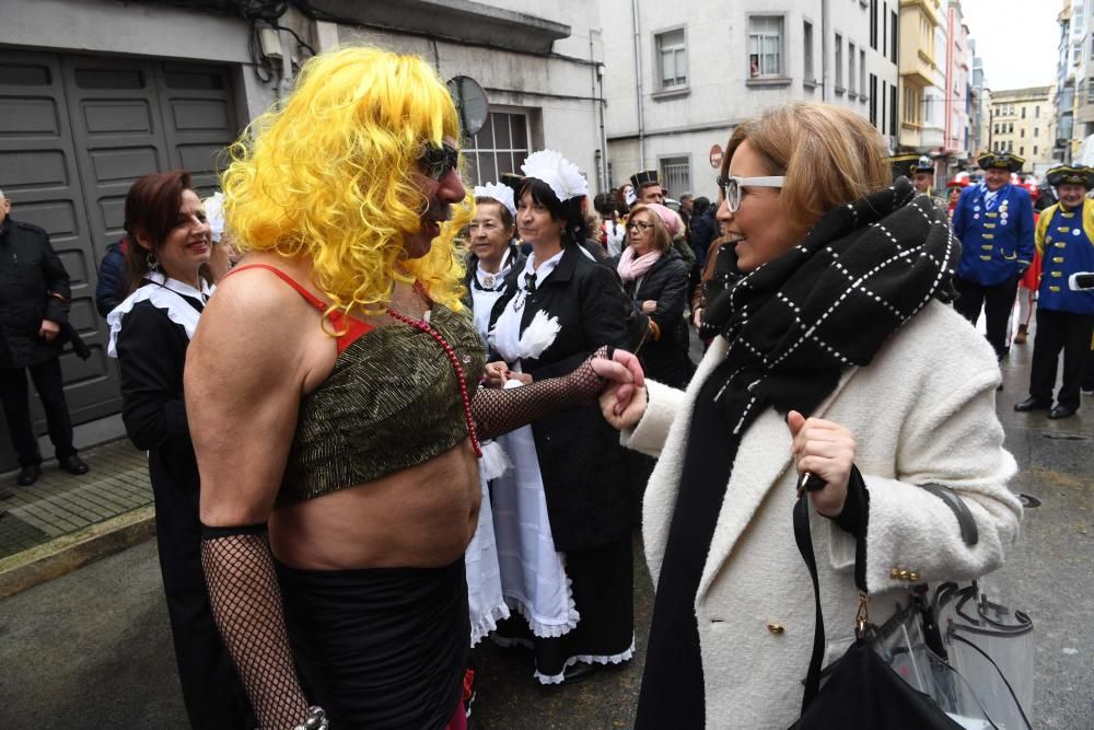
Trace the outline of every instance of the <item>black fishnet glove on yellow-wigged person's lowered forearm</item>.
{"label": "black fishnet glove on yellow-wigged person's lowered forearm", "polygon": [[[209,529],[207,529],[209,530]],[[295,728],[307,717],[281,610],[266,533],[201,541],[209,601],[263,730]]]}

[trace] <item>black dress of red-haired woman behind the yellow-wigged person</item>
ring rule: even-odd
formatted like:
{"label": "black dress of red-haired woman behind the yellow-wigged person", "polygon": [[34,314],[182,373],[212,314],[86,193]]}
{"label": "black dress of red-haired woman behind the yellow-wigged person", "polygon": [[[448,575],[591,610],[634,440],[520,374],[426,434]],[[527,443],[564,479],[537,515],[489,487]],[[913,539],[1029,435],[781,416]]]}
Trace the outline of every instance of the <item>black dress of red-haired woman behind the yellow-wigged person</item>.
{"label": "black dress of red-haired woman behind the yellow-wigged person", "polygon": [[[166,286],[174,283],[168,279]],[[173,306],[197,312],[203,308],[199,297],[173,290],[168,297],[177,298]],[[132,304],[120,324],[116,348],[121,418],[133,445],[148,451],[160,571],[190,726],[218,730],[254,727],[243,684],[213,623],[201,569],[200,480],[183,401],[189,336],[183,325],[149,300]]]}

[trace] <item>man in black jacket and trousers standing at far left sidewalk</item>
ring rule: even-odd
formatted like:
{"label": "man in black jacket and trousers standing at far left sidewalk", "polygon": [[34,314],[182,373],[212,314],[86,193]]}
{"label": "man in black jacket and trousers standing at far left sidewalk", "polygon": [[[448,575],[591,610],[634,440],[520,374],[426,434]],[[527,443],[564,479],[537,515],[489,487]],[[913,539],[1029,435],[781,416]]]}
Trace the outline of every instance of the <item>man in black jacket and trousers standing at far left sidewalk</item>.
{"label": "man in black jacket and trousers standing at far left sidewalk", "polygon": [[68,324],[69,276],[49,245],[49,235],[37,225],[12,220],[10,211],[11,201],[0,192],[0,403],[22,467],[16,484],[30,486],[42,474],[42,454],[31,427],[26,371],[46,410],[61,468],[86,474],[88,465],[72,445],[59,360],[58,335]]}

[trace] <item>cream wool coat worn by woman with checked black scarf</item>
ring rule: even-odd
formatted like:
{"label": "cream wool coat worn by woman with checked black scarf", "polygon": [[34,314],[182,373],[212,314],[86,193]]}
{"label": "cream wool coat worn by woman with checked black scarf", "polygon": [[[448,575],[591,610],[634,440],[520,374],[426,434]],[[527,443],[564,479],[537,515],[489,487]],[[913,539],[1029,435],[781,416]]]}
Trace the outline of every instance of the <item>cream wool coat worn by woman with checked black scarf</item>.
{"label": "cream wool coat worn by woman with checked black scarf", "polygon": [[[687,392],[649,383],[649,406],[624,445],[659,456],[643,505],[654,586],[683,472],[696,394],[726,351],[719,337]],[[1006,488],[1014,459],[996,417],[999,367],[990,346],[951,308],[931,301],[845,373],[814,416],[849,428],[870,493],[866,581],[881,624],[906,596],[893,568],[939,583],[982,576],[1003,563],[1022,507]],[[813,649],[813,587],[794,543],[796,472],[790,430],[773,409],[745,433],[733,464],[696,595],[708,728],[784,729],[798,717]],[[968,505],[979,542],[966,547],[957,520],[921,484],[951,487]],[[854,538],[811,515],[827,647],[825,663],[853,639]],[[768,628],[784,628],[775,633]]]}

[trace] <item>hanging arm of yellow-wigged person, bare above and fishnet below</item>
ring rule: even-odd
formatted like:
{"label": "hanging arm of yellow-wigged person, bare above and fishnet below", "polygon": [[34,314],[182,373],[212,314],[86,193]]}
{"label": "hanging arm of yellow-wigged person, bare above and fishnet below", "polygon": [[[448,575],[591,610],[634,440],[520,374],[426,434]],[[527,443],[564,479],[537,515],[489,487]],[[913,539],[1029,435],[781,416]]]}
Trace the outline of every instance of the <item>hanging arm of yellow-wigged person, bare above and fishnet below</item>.
{"label": "hanging arm of yellow-wigged person, bare above and fishnet below", "polygon": [[184,378],[213,615],[260,726],[280,730],[303,722],[307,700],[292,662],[265,523],[306,376],[304,334],[318,323],[314,311],[286,299],[295,297],[288,288],[256,286],[260,277],[272,279],[243,273],[220,287],[190,344]]}

